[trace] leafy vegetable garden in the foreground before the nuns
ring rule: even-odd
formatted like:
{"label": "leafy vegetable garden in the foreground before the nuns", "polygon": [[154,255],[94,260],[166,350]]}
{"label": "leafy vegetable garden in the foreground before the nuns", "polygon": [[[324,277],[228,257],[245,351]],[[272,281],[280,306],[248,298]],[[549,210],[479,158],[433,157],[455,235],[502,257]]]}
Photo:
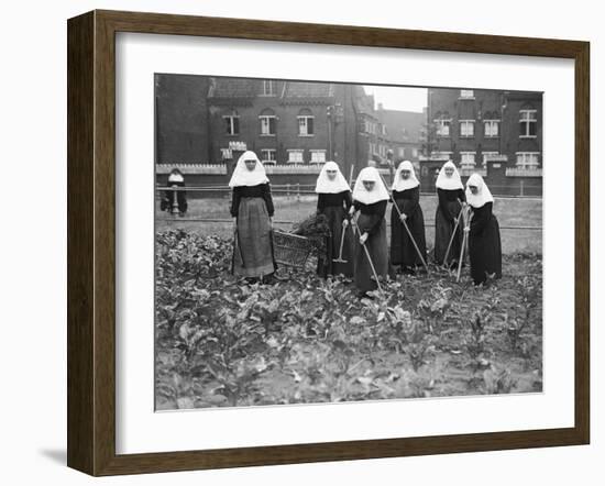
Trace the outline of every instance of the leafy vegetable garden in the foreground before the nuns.
{"label": "leafy vegetable garden in the foreground before the nuns", "polygon": [[429,264],[358,299],[343,278],[230,275],[231,241],[156,234],[156,409],[542,389],[541,255],[503,255],[474,287]]}

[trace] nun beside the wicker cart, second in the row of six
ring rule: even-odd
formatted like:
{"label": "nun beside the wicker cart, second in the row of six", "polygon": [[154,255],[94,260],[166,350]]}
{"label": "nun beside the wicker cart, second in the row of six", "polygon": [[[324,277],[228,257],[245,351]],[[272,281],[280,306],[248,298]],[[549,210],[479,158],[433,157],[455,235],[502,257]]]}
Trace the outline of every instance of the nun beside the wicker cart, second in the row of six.
{"label": "nun beside the wicker cart, second in the row of six", "polygon": [[353,277],[353,230],[348,219],[353,199],[351,187],[336,162],[327,162],[321,167],[315,191],[317,213],[326,216],[330,225],[330,236],[326,239],[327,261],[318,262],[317,273],[323,278],[339,274]]}

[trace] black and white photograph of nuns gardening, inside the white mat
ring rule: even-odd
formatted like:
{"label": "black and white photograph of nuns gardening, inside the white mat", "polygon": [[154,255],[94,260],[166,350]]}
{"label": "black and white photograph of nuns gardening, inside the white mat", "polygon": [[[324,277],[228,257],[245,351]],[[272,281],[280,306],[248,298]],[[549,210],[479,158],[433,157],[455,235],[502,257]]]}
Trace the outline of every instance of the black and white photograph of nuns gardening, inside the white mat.
{"label": "black and white photograph of nuns gardening, inside the white mat", "polygon": [[155,410],[542,391],[542,92],[153,82]]}

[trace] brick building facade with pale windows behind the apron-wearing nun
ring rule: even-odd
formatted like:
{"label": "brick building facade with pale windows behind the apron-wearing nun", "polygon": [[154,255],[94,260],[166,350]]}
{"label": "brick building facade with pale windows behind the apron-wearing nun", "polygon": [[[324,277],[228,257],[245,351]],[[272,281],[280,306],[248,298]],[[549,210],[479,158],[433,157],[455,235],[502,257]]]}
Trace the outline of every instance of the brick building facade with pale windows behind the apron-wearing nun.
{"label": "brick building facade with pale windows behind the apron-wearing nun", "polygon": [[[211,163],[254,151],[264,164],[323,163],[333,157],[334,85],[213,78],[208,92]],[[333,145],[333,144],[332,144]]]}

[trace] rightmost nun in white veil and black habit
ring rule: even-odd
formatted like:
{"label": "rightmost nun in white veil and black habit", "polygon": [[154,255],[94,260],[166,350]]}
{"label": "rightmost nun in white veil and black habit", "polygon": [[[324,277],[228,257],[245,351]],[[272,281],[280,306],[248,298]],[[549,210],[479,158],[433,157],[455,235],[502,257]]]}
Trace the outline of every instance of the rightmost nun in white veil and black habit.
{"label": "rightmost nun in white veil and black habit", "polygon": [[469,232],[471,277],[475,285],[502,278],[502,244],[498,220],[493,214],[494,198],[483,177],[473,174],[466,181],[466,201],[472,218]]}

